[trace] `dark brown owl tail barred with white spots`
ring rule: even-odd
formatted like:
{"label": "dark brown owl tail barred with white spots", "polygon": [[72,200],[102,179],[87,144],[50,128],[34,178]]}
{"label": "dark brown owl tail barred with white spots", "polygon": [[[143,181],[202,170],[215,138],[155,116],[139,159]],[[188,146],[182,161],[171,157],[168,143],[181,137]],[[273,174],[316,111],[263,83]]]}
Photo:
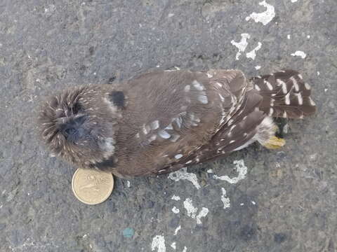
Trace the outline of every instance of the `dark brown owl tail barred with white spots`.
{"label": "dark brown owl tail barred with white spots", "polygon": [[263,97],[259,108],[277,118],[304,118],[316,112],[311,87],[298,71],[283,70],[251,78]]}

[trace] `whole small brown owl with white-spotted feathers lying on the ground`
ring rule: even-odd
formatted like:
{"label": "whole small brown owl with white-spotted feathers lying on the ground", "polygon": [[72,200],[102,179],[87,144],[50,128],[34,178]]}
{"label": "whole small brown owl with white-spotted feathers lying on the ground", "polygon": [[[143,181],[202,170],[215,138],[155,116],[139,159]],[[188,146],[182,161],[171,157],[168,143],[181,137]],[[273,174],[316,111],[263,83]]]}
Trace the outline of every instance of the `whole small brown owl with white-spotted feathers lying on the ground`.
{"label": "whole small brown owl with white-spotted feathers lying on the ground", "polygon": [[279,148],[272,118],[316,111],[293,70],[247,80],[239,70],[155,71],[84,85],[48,99],[41,137],[54,155],[119,177],[163,174],[229,155],[255,141]]}

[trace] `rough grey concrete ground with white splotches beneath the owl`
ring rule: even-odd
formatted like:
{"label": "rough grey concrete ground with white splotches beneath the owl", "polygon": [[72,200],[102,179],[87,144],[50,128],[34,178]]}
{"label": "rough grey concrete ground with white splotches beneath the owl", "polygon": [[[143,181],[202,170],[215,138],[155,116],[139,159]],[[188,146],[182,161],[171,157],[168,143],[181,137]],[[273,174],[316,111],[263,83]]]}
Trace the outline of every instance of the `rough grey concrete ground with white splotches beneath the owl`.
{"label": "rough grey concrete ground with white splotches beneath the owl", "polygon": [[[259,3],[1,0],[0,251],[336,251],[337,3]],[[247,21],[252,13],[267,23]],[[250,38],[237,60],[231,41],[242,34]],[[258,42],[256,58],[247,57]],[[253,145],[188,169],[194,185],[177,175],[116,179],[103,204],[77,201],[74,168],[37,141],[39,101],[72,85],[173,66],[248,76],[298,69],[317,116],[288,122],[282,150]],[[235,183],[216,179],[236,178],[238,160]]]}

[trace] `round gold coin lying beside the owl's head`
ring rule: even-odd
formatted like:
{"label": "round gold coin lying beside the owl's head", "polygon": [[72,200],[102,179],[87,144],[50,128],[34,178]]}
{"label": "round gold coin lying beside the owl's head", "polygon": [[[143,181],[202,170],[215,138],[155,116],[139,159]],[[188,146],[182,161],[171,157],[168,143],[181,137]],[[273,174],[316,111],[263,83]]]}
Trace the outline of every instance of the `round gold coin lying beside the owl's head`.
{"label": "round gold coin lying beside the owl's head", "polygon": [[111,173],[90,169],[77,169],[72,176],[72,191],[80,202],[100,204],[107,200],[114,188]]}

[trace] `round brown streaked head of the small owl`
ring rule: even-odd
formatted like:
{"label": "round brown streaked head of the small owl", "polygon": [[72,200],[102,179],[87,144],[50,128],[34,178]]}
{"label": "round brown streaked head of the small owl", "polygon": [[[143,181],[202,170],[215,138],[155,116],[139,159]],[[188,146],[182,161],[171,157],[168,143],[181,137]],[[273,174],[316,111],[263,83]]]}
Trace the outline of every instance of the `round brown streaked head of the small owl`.
{"label": "round brown streaked head of the small owl", "polygon": [[117,126],[109,113],[93,87],[65,90],[43,104],[39,114],[41,137],[54,155],[79,167],[112,167]]}

